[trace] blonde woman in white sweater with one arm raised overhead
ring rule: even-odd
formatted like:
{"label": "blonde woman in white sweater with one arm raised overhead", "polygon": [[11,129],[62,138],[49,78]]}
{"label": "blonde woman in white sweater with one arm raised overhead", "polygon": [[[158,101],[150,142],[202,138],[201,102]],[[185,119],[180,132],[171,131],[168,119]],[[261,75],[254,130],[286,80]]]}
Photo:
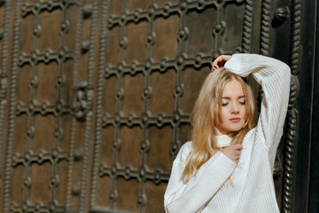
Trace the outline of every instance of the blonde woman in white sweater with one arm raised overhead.
{"label": "blonde woman in white sweater with one arm raised overhead", "polygon": [[[192,141],[173,163],[164,195],[174,212],[279,212],[272,177],[283,134],[290,68],[255,54],[220,56],[193,110]],[[264,98],[253,128],[252,74]]]}

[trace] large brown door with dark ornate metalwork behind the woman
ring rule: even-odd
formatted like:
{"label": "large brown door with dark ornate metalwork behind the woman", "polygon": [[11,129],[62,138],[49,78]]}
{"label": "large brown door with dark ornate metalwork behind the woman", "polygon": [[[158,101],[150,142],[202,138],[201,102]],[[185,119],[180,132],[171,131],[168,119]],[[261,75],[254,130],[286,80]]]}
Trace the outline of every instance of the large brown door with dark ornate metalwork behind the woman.
{"label": "large brown door with dark ornate metalwork behind the woman", "polygon": [[0,17],[1,211],[164,212],[211,61],[256,52],[292,67],[275,170],[291,212],[300,1],[14,0]]}

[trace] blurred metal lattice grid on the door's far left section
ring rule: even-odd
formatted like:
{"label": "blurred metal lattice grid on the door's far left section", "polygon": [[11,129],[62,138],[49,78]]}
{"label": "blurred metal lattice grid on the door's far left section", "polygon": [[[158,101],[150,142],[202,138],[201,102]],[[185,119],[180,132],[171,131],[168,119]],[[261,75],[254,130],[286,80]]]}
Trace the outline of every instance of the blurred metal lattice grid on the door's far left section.
{"label": "blurred metal lattice grid on the door's far left section", "polygon": [[[71,107],[65,103],[65,100],[61,98],[60,94],[62,87],[65,84],[65,75],[62,73],[64,63],[68,59],[74,58],[74,52],[68,50],[66,45],[63,43],[64,37],[69,33],[70,23],[66,20],[67,9],[71,5],[75,5],[76,1],[37,1],[35,4],[22,4],[21,1],[17,1],[15,4],[15,25],[14,25],[14,37],[13,37],[13,54],[12,54],[12,75],[11,75],[11,94],[10,94],[10,118],[9,118],[9,136],[7,142],[7,157],[5,166],[5,180],[4,180],[4,212],[65,212],[69,210],[70,207],[70,196],[71,196],[71,181],[72,181],[72,171],[73,171],[73,156],[74,156],[74,121],[71,128],[71,145],[69,151],[62,150],[60,143],[64,137],[64,130],[62,129],[62,118],[65,114],[72,114]],[[11,5],[10,2],[6,5]],[[59,43],[59,48],[57,51],[52,51],[47,49],[46,51],[40,51],[37,47],[38,41],[43,36],[43,29],[39,24],[40,14],[45,11],[56,11],[60,10],[62,14],[62,21],[59,28],[59,36],[61,37],[61,43]],[[10,12],[11,10],[8,10]],[[34,16],[34,30],[32,34],[32,51],[19,52],[19,32],[21,26],[21,20],[26,19],[28,16]],[[4,39],[6,39],[4,32]],[[77,49],[76,51],[80,51]],[[38,90],[38,65],[44,63],[46,65],[51,65],[52,62],[58,64],[56,88],[57,88],[57,99],[55,102],[50,103],[48,101],[43,101],[43,103],[38,103],[35,100],[35,91]],[[17,72],[19,67],[30,66],[30,80],[29,80],[29,90],[30,98],[27,103],[17,99]],[[3,64],[4,66],[4,64]],[[75,74],[77,70],[74,71]],[[77,76],[77,75],[75,75]],[[77,79],[77,78],[75,78]],[[77,81],[75,80],[75,85]],[[87,88],[85,88],[86,96],[89,96]],[[79,93],[79,92],[78,92]],[[79,99],[80,103],[82,99]],[[88,104],[90,106],[90,104]],[[86,107],[85,110],[88,110]],[[89,114],[85,111],[86,114]],[[13,135],[16,132],[16,119],[19,116],[27,115],[27,132],[26,132],[26,151],[24,154],[13,153]],[[32,144],[35,139],[36,133],[35,129],[35,116],[41,114],[43,116],[52,114],[55,117],[55,130],[54,134],[51,136],[53,140],[53,146],[51,151],[40,149],[37,152],[32,150]],[[19,132],[19,134],[21,134]],[[86,137],[88,141],[88,137]],[[87,150],[85,150],[87,151]],[[88,151],[87,151],[88,153]],[[76,153],[75,153],[76,156]],[[81,159],[80,159],[81,160]],[[66,192],[66,204],[61,205],[57,201],[57,189],[60,184],[61,178],[58,176],[58,167],[60,162],[70,162],[68,167],[68,182],[67,182],[67,192]],[[35,204],[28,201],[30,196],[30,191],[32,185],[36,183],[31,177],[31,168],[38,165],[43,165],[45,163],[50,163],[51,165],[51,178],[48,182],[50,187],[51,196],[49,203],[36,202]],[[11,201],[10,191],[11,191],[11,181],[12,181],[12,171],[16,168],[22,166],[25,170],[24,172],[24,182],[23,182],[23,201],[21,203],[16,203]],[[84,165],[83,165],[84,167]]]}

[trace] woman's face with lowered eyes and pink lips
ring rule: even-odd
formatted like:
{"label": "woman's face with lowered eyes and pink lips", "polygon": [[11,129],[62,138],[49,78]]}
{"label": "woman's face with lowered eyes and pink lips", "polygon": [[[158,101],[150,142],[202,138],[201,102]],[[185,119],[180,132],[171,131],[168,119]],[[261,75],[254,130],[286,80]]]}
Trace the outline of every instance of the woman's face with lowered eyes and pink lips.
{"label": "woman's face with lowered eyes and pink lips", "polygon": [[230,134],[240,130],[245,124],[245,95],[242,85],[231,79],[222,91],[218,135]]}

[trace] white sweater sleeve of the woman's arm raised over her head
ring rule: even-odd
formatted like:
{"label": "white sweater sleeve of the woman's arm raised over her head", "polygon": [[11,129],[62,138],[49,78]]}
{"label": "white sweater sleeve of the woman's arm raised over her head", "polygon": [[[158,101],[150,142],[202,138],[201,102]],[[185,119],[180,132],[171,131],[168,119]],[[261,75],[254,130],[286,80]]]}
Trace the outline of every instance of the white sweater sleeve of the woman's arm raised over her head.
{"label": "white sweater sleeve of the woman's arm raised over her head", "polygon": [[264,97],[256,133],[265,140],[268,149],[276,150],[283,134],[287,113],[291,71],[284,62],[256,54],[234,54],[225,68],[240,76],[253,74],[261,84]]}

